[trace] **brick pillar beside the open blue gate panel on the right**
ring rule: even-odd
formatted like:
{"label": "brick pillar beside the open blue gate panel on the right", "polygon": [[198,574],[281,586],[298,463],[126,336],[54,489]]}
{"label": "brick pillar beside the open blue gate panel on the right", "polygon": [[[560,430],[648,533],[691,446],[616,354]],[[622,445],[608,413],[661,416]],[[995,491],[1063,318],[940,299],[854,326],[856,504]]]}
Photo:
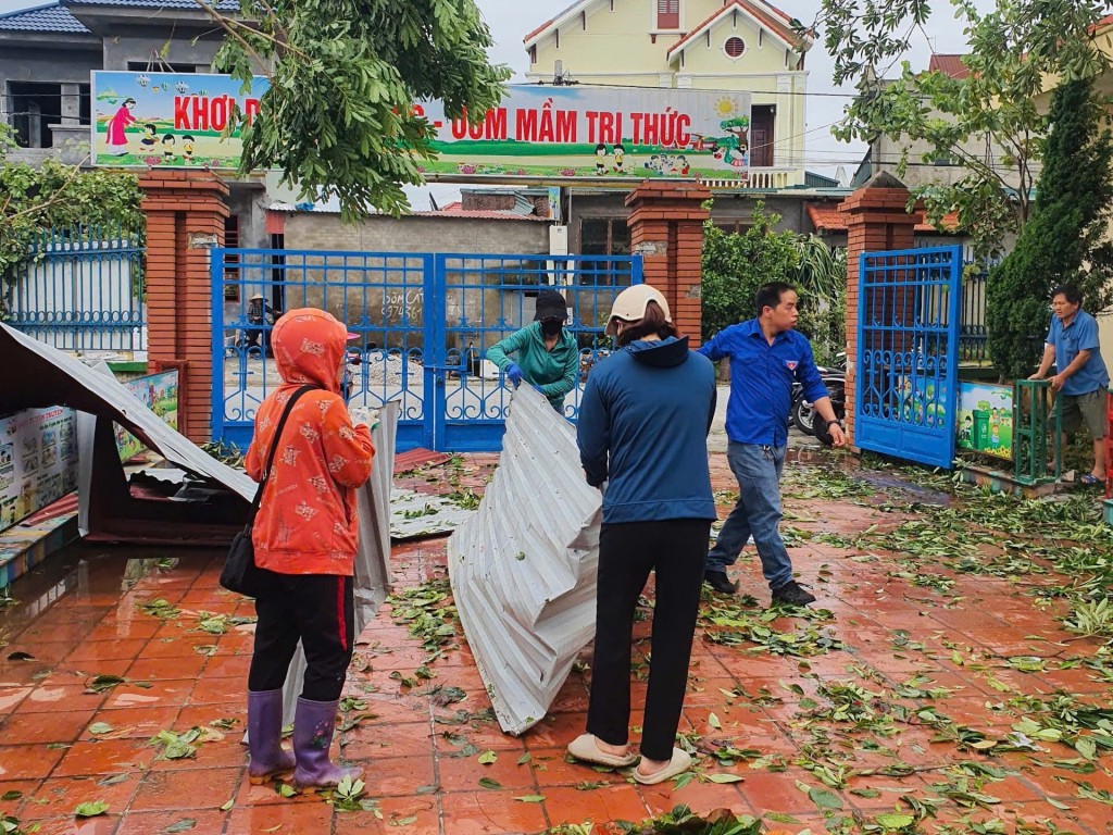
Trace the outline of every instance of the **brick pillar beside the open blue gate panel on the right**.
{"label": "brick pillar beside the open blue gate panel on the right", "polygon": [[847,214],[846,253],[846,424],[854,445],[855,380],[858,361],[858,287],[863,253],[910,249],[918,218],[908,214],[908,189],[892,174],[875,174],[847,197],[839,210]]}

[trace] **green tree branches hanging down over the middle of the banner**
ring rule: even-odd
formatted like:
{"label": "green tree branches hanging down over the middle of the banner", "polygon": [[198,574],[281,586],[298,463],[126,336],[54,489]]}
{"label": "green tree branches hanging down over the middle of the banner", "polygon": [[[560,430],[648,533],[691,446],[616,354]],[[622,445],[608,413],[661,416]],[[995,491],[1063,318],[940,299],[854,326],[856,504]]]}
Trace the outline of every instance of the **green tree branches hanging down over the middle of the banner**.
{"label": "green tree branches hanging down over the middle of the banner", "polygon": [[303,199],[338,197],[347,219],[398,214],[402,186],[423,183],[433,130],[415,102],[482,119],[511,76],[487,61],[474,0],[242,0],[234,18],[196,2],[226,33],[215,66],[270,80],[253,124],[229,128],[244,131],[240,174],[276,168]]}

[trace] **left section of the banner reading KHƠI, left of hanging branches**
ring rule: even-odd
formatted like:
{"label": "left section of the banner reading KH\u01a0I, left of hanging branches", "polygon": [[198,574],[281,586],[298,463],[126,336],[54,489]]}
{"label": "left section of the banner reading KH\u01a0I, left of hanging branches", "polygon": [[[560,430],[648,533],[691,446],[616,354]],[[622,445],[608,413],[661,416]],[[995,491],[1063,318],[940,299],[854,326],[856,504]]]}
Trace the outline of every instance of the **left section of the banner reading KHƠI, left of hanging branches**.
{"label": "left section of the banner reading KH\u01a0I, left of hanging branches", "polygon": [[92,164],[238,168],[239,134],[221,132],[234,105],[253,118],[268,87],[256,78],[244,95],[230,76],[93,71]]}

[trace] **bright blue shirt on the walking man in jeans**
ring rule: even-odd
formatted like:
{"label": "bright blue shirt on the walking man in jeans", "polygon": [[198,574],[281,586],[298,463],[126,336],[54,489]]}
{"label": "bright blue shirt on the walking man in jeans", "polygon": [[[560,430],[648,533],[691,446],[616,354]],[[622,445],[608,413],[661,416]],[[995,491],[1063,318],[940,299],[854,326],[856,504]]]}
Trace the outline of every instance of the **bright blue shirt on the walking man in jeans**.
{"label": "bright blue shirt on the walking man in jeans", "polygon": [[711,361],[730,360],[727,436],[737,443],[788,443],[794,380],[812,403],[828,396],[811,344],[796,331],[777,334],[770,345],[758,321],[751,318],[723,328],[699,353]]}

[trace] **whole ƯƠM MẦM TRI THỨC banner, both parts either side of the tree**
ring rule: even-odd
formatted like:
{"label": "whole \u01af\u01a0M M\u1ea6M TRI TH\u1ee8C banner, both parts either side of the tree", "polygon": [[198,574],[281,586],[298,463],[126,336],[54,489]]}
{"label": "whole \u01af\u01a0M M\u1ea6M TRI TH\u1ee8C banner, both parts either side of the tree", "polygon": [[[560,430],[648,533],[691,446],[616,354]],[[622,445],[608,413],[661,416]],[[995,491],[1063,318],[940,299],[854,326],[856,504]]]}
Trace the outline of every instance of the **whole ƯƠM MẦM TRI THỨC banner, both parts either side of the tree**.
{"label": "whole \u01af\u01a0M M\u1ea6M TRI TH\u1ee8C banner, both parts either side of the tree", "polygon": [[[236,168],[242,145],[221,138],[233,106],[250,118],[268,88],[248,95],[228,76],[92,73],[92,149],[98,166]],[[416,111],[436,131],[430,175],[738,180],[750,160],[750,94],[729,90],[514,86],[482,124],[445,118],[441,102]]]}

